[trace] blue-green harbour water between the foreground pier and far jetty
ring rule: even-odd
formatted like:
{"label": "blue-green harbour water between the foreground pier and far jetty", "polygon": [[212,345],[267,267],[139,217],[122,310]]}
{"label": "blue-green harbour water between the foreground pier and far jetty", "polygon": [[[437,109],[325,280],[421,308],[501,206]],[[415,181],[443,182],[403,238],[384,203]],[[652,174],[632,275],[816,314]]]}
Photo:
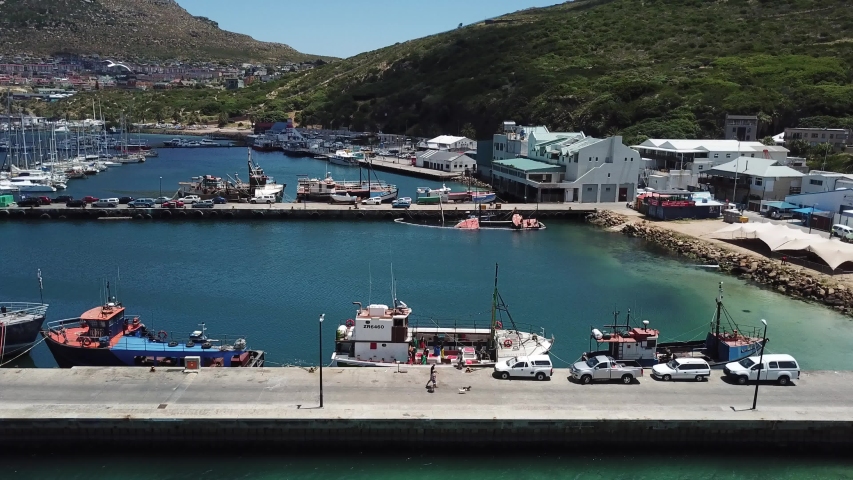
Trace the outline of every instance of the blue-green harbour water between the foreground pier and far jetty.
{"label": "blue-green harbour water between the foreground pier and far jetty", "polygon": [[[583,224],[466,232],[393,222],[35,221],[0,229],[0,258],[14,265],[0,276],[4,298],[38,300],[41,269],[49,319],[74,317],[101,302],[110,280],[149,327],[187,332],[206,322],[211,333],[246,335],[278,363],[316,364],[321,313],[331,352],[353,301],[390,303],[392,265],[413,319],[486,324],[497,262],[515,321],[555,335],[553,353],[565,361],[589,349],[590,327],[609,323],[614,310],[624,318],[631,308],[667,340],[704,338],[724,281],[737,321],[767,319],[771,351],[806,369],[853,366],[848,318]],[[43,345],[32,358],[53,365]]]}

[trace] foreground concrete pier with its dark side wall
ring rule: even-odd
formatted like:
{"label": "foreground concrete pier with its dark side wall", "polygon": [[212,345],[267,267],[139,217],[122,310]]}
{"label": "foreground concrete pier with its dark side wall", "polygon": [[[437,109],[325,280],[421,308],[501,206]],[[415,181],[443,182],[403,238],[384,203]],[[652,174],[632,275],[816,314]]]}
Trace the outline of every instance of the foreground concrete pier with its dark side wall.
{"label": "foreground concrete pier with its dark side wall", "polygon": [[[435,393],[423,367],[0,370],[0,447],[118,444],[255,451],[341,448],[566,451],[608,446],[725,446],[843,451],[853,446],[853,372],[804,372],[794,385],[706,382],[632,385],[498,380],[443,368]],[[459,393],[460,387],[470,391]],[[461,450],[460,450],[461,449]],[[701,450],[696,450],[701,451]],[[709,450],[710,451],[710,450]]]}

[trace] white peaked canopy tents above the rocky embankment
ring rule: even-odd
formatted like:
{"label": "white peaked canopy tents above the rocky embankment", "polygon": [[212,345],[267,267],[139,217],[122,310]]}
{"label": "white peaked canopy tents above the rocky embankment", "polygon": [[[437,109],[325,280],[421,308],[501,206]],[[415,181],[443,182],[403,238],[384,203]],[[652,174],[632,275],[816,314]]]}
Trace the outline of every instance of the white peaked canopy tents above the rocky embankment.
{"label": "white peaked canopy tents above the rocky embankment", "polygon": [[798,228],[773,223],[739,223],[728,225],[713,235],[731,235],[731,238],[758,239],[771,251],[807,250],[820,257],[833,270],[844,262],[853,262],[853,244],[829,240],[820,235],[806,233]]}

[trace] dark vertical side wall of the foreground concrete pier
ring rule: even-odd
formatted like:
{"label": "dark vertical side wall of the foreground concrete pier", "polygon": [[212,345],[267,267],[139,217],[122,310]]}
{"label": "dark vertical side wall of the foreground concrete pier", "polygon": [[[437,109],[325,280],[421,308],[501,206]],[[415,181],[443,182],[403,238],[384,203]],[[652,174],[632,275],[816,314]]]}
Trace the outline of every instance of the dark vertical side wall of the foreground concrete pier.
{"label": "dark vertical side wall of the foreground concrete pier", "polygon": [[[735,451],[840,452],[853,423],[838,421],[431,420],[431,419],[2,419],[0,448],[62,451],[68,445],[172,445],[180,450],[648,451],[653,446],[725,445]],[[700,451],[700,450],[697,450]],[[711,451],[711,450],[709,450]]]}

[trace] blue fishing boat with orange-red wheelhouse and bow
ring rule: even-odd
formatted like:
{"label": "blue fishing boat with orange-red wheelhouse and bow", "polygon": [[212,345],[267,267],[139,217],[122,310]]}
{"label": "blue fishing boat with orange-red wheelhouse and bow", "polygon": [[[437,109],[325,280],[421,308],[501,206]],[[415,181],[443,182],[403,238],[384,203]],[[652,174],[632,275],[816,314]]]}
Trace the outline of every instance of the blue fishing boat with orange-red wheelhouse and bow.
{"label": "blue fishing boat with orange-red wheelhouse and bow", "polygon": [[[109,287],[108,287],[109,290]],[[201,358],[203,367],[262,367],[264,352],[246,348],[244,337],[149,330],[139,316],[128,314],[115,297],[80,317],[55,320],[41,331],[50,353],[61,368],[77,366],[183,366],[188,356]]]}

